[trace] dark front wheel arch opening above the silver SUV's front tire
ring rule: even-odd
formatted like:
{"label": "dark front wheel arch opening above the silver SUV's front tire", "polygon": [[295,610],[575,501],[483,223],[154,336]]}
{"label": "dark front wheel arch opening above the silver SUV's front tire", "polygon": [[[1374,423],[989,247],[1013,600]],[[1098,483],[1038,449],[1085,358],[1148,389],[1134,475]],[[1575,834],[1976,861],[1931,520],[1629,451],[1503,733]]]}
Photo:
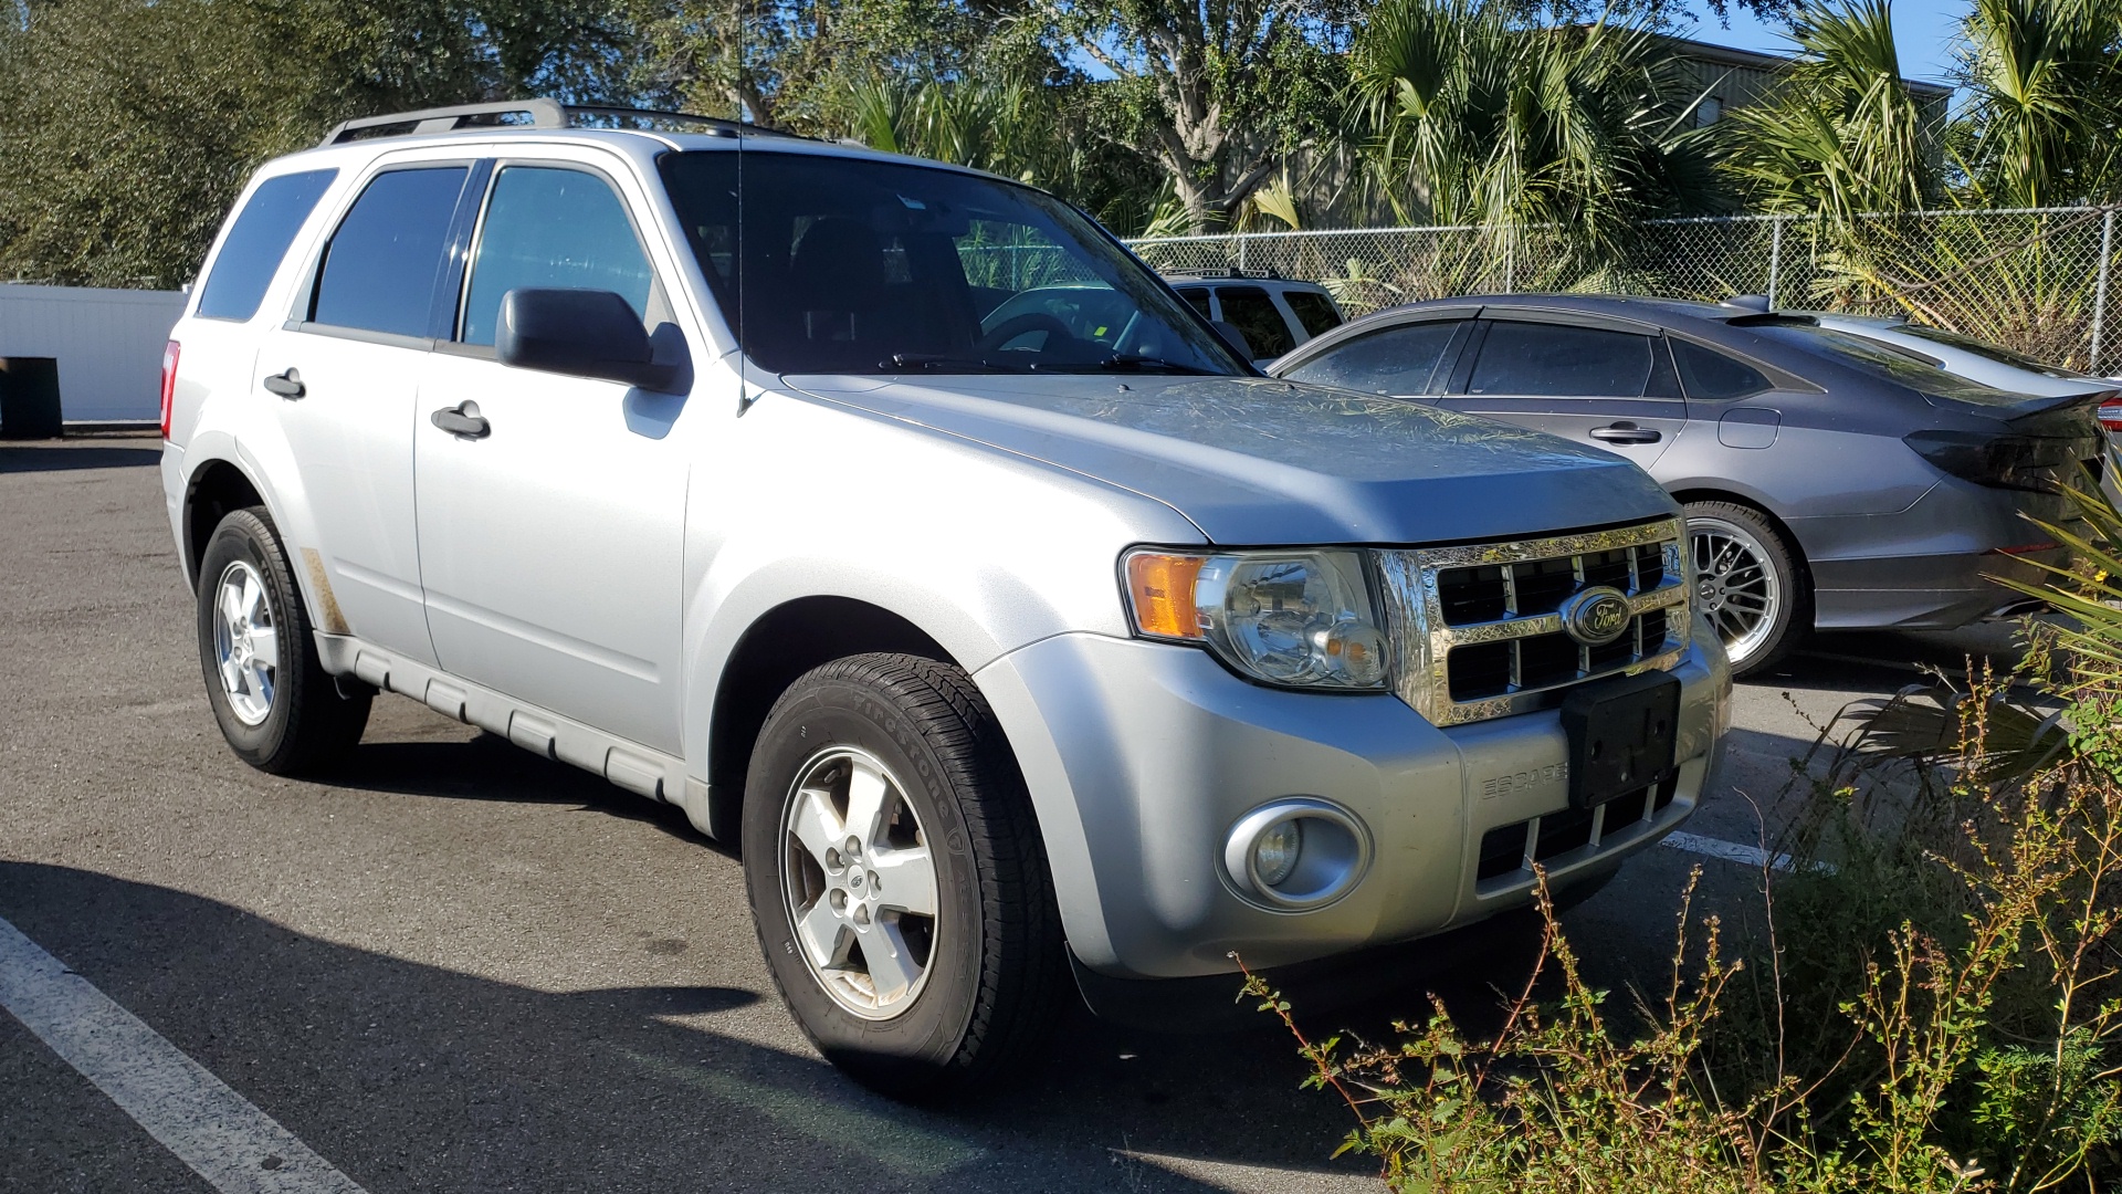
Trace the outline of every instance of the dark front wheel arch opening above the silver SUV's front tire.
{"label": "dark front wheel arch opening above the silver SUV's front tire", "polygon": [[738,841],[751,748],[781,693],[813,667],[868,652],[917,654],[963,667],[910,618],[855,597],[798,597],[745,627],[715,682],[709,714],[705,829],[715,841]]}

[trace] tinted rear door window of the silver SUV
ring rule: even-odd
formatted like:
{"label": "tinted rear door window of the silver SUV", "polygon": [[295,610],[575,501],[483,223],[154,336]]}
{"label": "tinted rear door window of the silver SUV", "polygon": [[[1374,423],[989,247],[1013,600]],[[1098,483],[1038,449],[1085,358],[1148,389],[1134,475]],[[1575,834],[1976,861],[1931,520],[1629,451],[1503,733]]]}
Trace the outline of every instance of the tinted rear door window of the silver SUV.
{"label": "tinted rear door window of the silver SUV", "polygon": [[325,246],[310,319],[429,336],[435,276],[467,172],[467,166],[439,166],[378,174]]}

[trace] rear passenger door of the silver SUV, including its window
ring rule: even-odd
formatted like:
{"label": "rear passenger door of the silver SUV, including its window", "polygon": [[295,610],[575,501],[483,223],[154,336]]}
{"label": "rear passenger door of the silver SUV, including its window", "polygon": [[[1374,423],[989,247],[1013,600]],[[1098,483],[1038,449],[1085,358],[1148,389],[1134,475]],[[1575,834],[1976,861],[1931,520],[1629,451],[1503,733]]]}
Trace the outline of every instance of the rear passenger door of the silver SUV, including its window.
{"label": "rear passenger door of the silver SUV, including its window", "polygon": [[463,164],[376,174],[333,229],[297,321],[265,334],[253,376],[253,402],[278,408],[314,518],[316,542],[289,542],[299,557],[289,563],[325,605],[320,627],[420,663],[435,652],[414,419],[435,276],[469,174]]}

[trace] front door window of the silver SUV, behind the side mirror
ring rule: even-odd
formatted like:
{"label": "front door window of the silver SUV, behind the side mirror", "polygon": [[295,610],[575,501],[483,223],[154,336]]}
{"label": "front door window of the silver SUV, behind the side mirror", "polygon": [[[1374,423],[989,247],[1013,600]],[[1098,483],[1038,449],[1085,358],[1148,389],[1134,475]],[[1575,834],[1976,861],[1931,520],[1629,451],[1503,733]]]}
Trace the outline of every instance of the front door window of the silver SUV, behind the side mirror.
{"label": "front door window of the silver SUV, behind the side mirror", "polygon": [[494,176],[465,295],[465,344],[492,344],[518,287],[615,291],[647,317],[647,253],[611,183],[588,170],[507,166]]}

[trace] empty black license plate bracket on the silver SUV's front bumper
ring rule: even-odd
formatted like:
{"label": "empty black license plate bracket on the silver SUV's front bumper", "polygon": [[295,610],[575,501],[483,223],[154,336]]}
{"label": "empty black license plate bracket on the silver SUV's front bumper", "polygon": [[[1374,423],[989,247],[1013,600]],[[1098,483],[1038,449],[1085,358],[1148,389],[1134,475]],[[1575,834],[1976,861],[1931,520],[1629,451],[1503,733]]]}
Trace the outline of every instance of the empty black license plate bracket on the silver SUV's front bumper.
{"label": "empty black license plate bracket on the silver SUV's front bumper", "polygon": [[1592,809],[1674,771],[1681,682],[1645,671],[1583,684],[1562,699],[1570,739],[1570,807]]}

